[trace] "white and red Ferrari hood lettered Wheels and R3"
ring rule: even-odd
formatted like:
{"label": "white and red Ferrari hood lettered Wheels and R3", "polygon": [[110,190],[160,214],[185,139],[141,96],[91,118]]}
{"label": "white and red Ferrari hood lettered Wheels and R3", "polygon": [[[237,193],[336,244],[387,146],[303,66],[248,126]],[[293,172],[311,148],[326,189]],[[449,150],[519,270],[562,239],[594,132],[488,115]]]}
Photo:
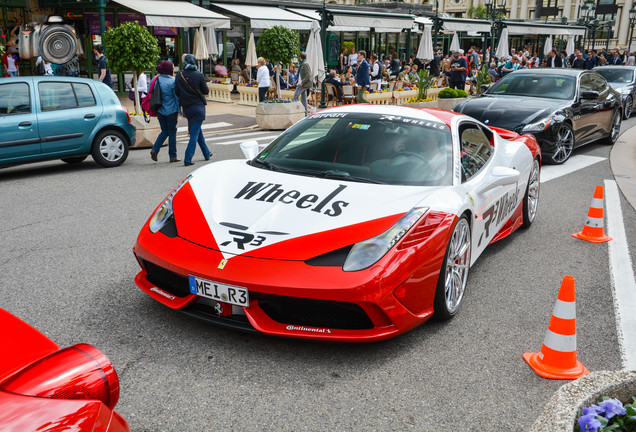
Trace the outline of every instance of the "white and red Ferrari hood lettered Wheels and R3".
{"label": "white and red Ferrari hood lettered Wheels and R3", "polygon": [[305,260],[386,231],[435,189],[293,175],[231,160],[193,172],[173,209],[180,237],[225,258]]}

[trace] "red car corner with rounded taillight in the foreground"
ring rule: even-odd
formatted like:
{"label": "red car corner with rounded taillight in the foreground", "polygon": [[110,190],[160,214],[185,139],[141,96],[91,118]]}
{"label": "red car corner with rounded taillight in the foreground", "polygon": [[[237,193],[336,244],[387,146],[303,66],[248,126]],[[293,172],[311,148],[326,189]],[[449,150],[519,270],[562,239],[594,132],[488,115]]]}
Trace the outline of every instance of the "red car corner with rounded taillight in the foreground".
{"label": "red car corner with rounded taillight in the foreground", "polygon": [[119,379],[97,348],[60,349],[0,309],[0,429],[129,432],[114,411]]}

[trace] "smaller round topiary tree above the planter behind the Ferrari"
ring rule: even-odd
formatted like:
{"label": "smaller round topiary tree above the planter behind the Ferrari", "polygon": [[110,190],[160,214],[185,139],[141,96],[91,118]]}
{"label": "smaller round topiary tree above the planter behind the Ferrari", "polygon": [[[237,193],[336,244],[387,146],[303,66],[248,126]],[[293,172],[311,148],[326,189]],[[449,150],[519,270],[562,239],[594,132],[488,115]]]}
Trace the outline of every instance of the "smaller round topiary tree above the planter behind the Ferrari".
{"label": "smaller round topiary tree above the planter behind the Ferrari", "polygon": [[[276,64],[287,65],[300,54],[300,36],[295,30],[290,30],[283,26],[274,26],[263,32],[258,38],[256,51],[263,58]],[[276,88],[278,89],[278,97],[280,98],[280,76],[279,69],[276,67]]]}

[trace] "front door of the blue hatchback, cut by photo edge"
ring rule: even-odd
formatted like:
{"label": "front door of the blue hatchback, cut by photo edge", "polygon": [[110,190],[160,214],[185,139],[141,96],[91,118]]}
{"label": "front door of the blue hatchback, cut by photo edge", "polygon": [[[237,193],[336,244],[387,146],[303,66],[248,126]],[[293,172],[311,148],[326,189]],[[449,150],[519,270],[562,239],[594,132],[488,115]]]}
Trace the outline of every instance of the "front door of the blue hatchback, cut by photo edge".
{"label": "front door of the blue hatchback, cut by photo edge", "polygon": [[31,79],[0,81],[0,165],[40,154],[32,86]]}

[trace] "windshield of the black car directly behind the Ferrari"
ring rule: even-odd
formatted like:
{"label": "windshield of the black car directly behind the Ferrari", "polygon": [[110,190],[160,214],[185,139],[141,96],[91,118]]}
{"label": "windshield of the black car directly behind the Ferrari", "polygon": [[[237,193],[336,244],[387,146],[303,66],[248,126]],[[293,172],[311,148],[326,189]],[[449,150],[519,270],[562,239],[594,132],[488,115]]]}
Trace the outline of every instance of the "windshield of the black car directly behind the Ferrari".
{"label": "windshield of the black car directly behind the Ferrari", "polygon": [[497,81],[486,94],[570,100],[575,91],[576,78],[572,76],[511,73]]}

